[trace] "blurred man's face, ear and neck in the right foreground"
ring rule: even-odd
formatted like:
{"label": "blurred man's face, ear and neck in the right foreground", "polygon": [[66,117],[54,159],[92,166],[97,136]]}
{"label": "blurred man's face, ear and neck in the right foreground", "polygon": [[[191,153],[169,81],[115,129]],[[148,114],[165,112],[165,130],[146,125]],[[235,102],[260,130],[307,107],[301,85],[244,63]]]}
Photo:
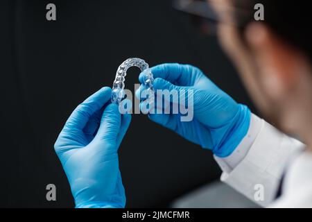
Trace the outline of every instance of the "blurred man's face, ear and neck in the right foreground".
{"label": "blurred man's face, ear and neck in the right foreground", "polygon": [[250,22],[240,33],[232,25],[234,12],[221,13],[231,11],[233,2],[209,1],[224,21],[218,25],[221,46],[264,117],[284,132],[304,137],[302,134],[312,126],[309,61],[262,22]]}

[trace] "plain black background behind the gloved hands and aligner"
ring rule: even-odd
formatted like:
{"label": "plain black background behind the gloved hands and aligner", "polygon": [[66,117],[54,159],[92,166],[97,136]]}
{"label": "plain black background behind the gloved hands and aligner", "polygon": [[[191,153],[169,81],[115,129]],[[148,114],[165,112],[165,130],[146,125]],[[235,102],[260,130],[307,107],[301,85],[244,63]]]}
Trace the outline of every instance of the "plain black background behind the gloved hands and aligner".
{"label": "plain black background behind the gloved hands and aligner", "polygon": [[[55,3],[57,21],[46,20]],[[0,1],[0,207],[73,207],[53,144],[71,111],[111,86],[123,60],[196,65],[250,104],[216,37],[200,35],[171,1]],[[130,69],[126,87],[138,83]],[[252,109],[252,111],[254,111]],[[136,114],[120,147],[128,207],[167,207],[216,180],[211,152]],[[46,185],[57,201],[46,200]]]}

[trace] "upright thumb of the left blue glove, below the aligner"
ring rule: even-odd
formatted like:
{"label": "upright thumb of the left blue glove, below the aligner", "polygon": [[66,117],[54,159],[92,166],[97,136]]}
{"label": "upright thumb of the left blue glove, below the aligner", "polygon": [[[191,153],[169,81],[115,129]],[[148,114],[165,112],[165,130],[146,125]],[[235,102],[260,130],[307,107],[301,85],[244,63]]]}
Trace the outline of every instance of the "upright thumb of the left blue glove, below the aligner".
{"label": "upright thumb of the left blue glove, below the aligner", "polygon": [[111,103],[105,108],[98,133],[94,139],[98,142],[116,144],[116,138],[121,128],[121,114],[118,105]]}

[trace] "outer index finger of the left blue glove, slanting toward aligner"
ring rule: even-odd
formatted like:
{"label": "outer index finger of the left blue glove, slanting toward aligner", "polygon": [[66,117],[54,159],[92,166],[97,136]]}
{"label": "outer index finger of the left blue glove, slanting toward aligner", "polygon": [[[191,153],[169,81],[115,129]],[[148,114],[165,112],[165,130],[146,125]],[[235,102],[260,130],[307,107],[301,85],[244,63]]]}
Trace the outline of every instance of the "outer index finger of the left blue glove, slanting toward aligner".
{"label": "outer index finger of the left blue glove, slanting toward aligner", "polygon": [[[92,114],[100,110],[107,101],[110,100],[112,89],[110,87],[103,87],[98,92],[89,96],[83,103],[73,110],[71,116],[65,123],[64,129],[70,130],[83,130]],[[63,130],[64,130],[63,129]]]}

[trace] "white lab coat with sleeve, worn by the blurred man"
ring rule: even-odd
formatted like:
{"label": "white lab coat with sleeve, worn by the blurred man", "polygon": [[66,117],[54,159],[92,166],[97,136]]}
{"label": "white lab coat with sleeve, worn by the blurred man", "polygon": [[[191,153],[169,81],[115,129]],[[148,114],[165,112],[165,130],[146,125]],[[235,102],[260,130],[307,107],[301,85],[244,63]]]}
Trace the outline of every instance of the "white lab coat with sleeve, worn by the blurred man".
{"label": "white lab coat with sleeve, worn by the blurred man", "polygon": [[312,153],[304,148],[252,114],[248,134],[234,153],[215,159],[221,180],[263,207],[312,207]]}

